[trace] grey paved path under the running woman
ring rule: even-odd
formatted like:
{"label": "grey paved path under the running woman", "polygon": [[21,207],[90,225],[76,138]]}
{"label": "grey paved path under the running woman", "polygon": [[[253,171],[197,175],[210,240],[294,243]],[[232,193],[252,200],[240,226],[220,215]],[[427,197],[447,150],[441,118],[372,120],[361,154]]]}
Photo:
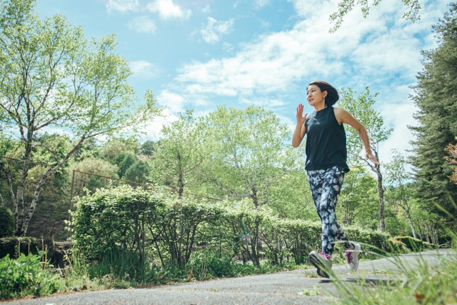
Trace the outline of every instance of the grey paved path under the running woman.
{"label": "grey paved path under the running woman", "polygon": [[[453,255],[453,252],[440,250],[426,251],[419,254],[401,256],[402,264],[411,267],[416,264],[439,264],[441,258]],[[366,281],[387,281],[386,272],[398,271],[393,259],[378,259],[375,261],[361,261],[358,273],[349,274],[346,266],[333,266],[333,271],[340,274],[346,281],[355,281],[367,275]],[[303,294],[304,289],[314,291],[334,292],[332,281],[316,278],[314,269],[284,271],[276,274],[258,276],[244,276],[230,279],[216,279],[186,284],[153,286],[143,289],[111,289],[104,291],[86,291],[73,294],[61,294],[40,299],[24,299],[12,301],[8,304],[46,305],[46,304],[325,304],[331,303],[331,296],[308,296]]]}

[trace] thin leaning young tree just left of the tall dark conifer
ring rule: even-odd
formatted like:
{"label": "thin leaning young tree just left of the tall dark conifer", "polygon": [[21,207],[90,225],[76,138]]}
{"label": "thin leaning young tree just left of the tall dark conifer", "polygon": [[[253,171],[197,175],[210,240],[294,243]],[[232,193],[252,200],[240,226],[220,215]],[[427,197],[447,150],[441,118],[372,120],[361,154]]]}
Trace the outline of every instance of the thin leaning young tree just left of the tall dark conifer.
{"label": "thin leaning young tree just left of the tall dark conifer", "polygon": [[413,236],[416,239],[416,230],[414,229],[413,219],[411,218],[411,213],[409,211],[409,196],[411,194],[408,188],[408,180],[411,180],[412,176],[408,173],[406,165],[406,157],[400,154],[396,149],[392,149],[392,161],[386,164],[387,179],[386,181],[390,183],[393,188],[391,189],[391,198],[392,200],[401,206],[401,209],[405,211],[406,218],[409,221],[411,226],[411,231]]}

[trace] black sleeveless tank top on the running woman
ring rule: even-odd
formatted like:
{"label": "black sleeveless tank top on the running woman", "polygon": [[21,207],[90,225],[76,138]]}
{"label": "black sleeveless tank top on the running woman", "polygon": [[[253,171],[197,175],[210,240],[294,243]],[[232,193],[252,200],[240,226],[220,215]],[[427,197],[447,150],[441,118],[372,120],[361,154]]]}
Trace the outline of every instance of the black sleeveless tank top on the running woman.
{"label": "black sleeveless tank top on the running woman", "polygon": [[338,124],[333,106],[313,111],[306,117],[306,167],[307,171],[341,166],[349,171],[346,159],[346,131]]}

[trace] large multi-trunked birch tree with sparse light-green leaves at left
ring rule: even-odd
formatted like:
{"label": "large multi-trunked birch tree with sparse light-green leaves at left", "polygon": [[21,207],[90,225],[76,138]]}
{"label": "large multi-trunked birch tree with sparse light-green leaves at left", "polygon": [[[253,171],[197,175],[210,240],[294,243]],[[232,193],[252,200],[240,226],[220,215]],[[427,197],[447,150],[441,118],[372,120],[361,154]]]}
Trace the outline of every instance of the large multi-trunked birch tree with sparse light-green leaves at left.
{"label": "large multi-trunked birch tree with sparse light-green leaves at left", "polygon": [[[2,132],[19,136],[24,152],[19,183],[14,192],[16,234],[25,235],[41,187],[87,139],[136,131],[139,124],[159,113],[151,91],[145,103],[135,106],[134,90],[127,78],[129,63],[115,53],[114,35],[88,44],[81,27],[57,14],[39,19],[34,0],[0,0],[0,117]],[[44,129],[59,128],[71,134],[65,149],[37,143]],[[49,169],[36,184],[28,209],[24,186],[34,149],[48,151]]]}

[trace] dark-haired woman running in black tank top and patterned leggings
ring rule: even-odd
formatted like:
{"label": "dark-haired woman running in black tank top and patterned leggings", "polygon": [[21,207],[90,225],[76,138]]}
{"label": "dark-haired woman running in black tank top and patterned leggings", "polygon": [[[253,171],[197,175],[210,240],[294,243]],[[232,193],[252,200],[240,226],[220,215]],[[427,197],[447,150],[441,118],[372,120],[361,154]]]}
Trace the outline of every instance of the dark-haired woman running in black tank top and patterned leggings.
{"label": "dark-haired woman running in black tank top and patterned leggings", "polygon": [[306,171],[314,205],[322,223],[322,253],[311,251],[308,258],[316,266],[319,276],[329,277],[331,254],[335,241],[343,241],[346,247],[348,268],[356,271],[360,244],[351,243],[343,229],[336,223],[335,207],[343,184],[344,174],[349,171],[346,164],[346,132],[343,123],[358,131],[366,158],[379,164],[371,153],[365,127],[348,111],[333,108],[338,101],[338,91],[325,81],[313,81],[306,89],[308,104],[314,111],[303,116],[303,104],[296,111],[297,125],[292,137],[292,146],[298,147],[305,134]]}

